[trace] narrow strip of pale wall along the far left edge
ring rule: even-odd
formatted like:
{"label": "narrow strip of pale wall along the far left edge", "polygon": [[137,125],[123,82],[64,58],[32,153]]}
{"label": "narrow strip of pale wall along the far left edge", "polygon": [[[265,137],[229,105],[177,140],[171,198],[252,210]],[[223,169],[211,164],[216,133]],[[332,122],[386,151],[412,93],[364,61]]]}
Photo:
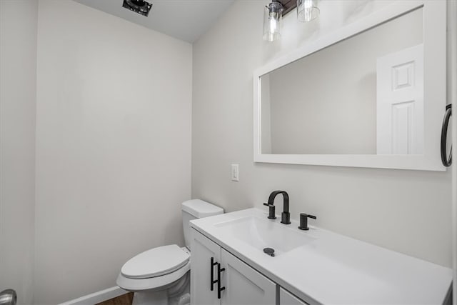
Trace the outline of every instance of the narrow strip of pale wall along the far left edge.
{"label": "narrow strip of pale wall along the far left edge", "polygon": [[0,291],[31,304],[34,271],[34,0],[0,1]]}

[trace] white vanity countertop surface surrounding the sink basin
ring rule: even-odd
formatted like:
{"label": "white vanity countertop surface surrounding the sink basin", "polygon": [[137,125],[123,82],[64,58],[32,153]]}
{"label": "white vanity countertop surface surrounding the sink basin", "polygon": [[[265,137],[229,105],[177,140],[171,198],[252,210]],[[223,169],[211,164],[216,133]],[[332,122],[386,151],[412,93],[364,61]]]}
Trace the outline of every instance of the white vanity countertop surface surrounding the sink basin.
{"label": "white vanity countertop surface surrounding the sink basin", "polygon": [[[280,226],[313,240],[275,257],[215,226],[266,211],[246,209],[191,221],[191,227],[309,304],[442,304],[452,269],[297,222]],[[249,232],[246,232],[249,234]]]}

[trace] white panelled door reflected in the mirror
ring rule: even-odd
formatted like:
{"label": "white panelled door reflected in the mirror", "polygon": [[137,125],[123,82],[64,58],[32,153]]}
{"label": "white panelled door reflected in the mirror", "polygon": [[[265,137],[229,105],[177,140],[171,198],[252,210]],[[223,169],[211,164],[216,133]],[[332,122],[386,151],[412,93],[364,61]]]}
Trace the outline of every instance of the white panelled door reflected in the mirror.
{"label": "white panelled door reflected in the mirror", "polygon": [[423,44],[377,62],[377,154],[423,154]]}

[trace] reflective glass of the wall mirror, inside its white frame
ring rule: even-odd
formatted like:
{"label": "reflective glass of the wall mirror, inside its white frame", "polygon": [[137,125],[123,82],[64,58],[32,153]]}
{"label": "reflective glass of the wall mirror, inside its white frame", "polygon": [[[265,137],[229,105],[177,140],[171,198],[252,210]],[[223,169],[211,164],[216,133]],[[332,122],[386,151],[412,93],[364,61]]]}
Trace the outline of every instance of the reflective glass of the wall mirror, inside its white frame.
{"label": "reflective glass of the wall mirror, inside its white frame", "polygon": [[423,154],[423,8],[261,76],[261,154]]}

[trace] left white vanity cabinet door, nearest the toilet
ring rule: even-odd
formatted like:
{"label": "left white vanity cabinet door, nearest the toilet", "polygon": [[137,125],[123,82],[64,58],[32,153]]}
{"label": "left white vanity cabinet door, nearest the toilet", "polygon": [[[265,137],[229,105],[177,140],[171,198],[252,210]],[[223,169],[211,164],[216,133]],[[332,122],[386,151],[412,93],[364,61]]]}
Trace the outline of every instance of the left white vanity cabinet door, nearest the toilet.
{"label": "left white vanity cabinet door, nearest the toilet", "polygon": [[[211,258],[214,264],[211,266]],[[221,262],[221,247],[195,229],[191,229],[191,304],[221,304],[217,298],[217,263]],[[214,286],[211,291],[211,286]]]}

